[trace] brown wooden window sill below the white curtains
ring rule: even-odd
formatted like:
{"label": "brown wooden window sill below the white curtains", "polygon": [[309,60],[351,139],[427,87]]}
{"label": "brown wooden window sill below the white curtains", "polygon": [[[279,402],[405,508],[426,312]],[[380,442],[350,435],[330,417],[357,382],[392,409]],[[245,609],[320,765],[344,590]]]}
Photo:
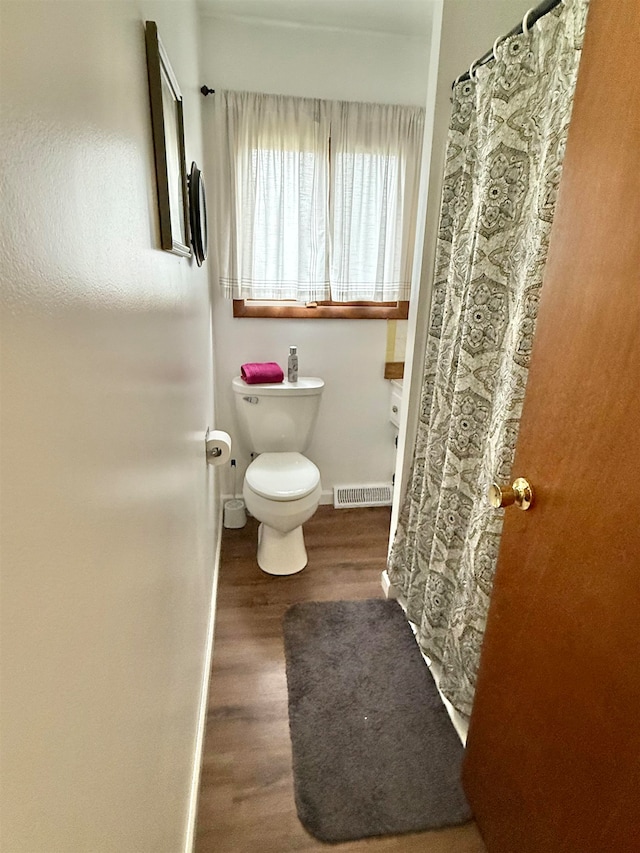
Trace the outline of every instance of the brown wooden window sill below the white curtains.
{"label": "brown wooden window sill below the white curtains", "polygon": [[234,317],[293,317],[298,320],[406,320],[408,302],[314,302],[310,305],[261,305],[233,300]]}

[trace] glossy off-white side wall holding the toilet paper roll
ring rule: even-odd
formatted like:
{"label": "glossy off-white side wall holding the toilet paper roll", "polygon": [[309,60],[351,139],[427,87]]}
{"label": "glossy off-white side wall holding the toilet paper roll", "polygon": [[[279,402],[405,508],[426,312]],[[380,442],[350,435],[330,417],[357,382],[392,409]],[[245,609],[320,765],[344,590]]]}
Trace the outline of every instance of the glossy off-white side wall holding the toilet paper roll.
{"label": "glossy off-white side wall holding the toilet paper roll", "polygon": [[219,535],[206,270],[158,246],[144,49],[191,2],[3,0],[0,848],[188,840]]}

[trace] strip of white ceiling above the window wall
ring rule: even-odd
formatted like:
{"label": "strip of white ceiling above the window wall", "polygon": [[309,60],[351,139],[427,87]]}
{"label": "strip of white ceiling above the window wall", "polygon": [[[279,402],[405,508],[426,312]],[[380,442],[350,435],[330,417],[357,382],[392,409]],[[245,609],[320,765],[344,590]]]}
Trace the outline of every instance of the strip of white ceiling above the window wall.
{"label": "strip of white ceiling above the window wall", "polygon": [[198,0],[204,15],[424,37],[437,0]]}

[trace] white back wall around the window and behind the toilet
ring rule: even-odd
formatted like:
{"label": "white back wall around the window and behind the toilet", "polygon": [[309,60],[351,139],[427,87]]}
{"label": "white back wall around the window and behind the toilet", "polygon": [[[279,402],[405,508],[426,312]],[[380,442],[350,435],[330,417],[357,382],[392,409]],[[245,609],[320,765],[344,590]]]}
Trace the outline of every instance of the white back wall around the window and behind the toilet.
{"label": "white back wall around the window and behind the toilet", "polygon": [[[424,105],[428,37],[203,18],[202,82],[226,88],[343,100]],[[214,96],[209,96],[210,100]],[[203,105],[205,147],[208,121]],[[211,187],[209,192],[215,192]],[[308,455],[322,474],[325,500],[334,484],[389,482],[395,430],[383,378],[386,323],[374,320],[234,319],[214,282],[215,366],[219,423],[235,433],[230,383],[246,361],[286,367],[290,344],[300,372],[325,379],[320,418]],[[247,462],[239,455],[238,483]],[[231,490],[231,485],[227,486]]]}

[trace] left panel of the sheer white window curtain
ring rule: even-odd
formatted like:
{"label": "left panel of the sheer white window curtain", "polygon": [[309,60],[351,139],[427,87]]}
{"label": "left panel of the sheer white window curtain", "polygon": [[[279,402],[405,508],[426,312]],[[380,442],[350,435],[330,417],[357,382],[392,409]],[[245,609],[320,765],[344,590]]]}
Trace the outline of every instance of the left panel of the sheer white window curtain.
{"label": "left panel of the sheer white window curtain", "polygon": [[216,91],[214,227],[230,299],[330,299],[329,116],[320,101]]}

